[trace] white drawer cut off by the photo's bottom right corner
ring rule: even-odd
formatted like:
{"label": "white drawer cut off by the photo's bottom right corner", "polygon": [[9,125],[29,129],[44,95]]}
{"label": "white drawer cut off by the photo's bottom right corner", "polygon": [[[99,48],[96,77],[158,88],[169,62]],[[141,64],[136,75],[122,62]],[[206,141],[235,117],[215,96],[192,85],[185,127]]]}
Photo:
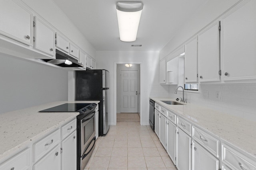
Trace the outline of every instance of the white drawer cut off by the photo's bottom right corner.
{"label": "white drawer cut off by the photo's bottom right corner", "polygon": [[236,150],[222,144],[222,161],[232,170],[255,170],[256,162],[250,160]]}

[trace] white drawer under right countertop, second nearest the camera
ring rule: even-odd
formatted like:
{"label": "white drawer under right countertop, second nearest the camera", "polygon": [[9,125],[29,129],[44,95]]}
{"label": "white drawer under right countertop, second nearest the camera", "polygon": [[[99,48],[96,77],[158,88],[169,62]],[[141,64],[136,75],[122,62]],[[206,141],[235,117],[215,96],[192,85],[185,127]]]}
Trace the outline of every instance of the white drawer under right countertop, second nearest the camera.
{"label": "white drawer under right countertop, second nearest the camera", "polygon": [[192,137],[209,152],[211,152],[217,158],[220,157],[220,141],[211,135],[201,131],[200,129],[192,128]]}

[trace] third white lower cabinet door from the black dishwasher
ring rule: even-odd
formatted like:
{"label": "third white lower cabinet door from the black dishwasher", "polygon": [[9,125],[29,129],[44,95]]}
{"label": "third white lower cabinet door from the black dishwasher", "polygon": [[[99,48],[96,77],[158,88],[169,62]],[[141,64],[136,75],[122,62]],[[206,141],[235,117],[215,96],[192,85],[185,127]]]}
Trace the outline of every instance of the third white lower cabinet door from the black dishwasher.
{"label": "third white lower cabinet door from the black dishwasher", "polygon": [[167,119],[166,151],[176,165],[176,125]]}

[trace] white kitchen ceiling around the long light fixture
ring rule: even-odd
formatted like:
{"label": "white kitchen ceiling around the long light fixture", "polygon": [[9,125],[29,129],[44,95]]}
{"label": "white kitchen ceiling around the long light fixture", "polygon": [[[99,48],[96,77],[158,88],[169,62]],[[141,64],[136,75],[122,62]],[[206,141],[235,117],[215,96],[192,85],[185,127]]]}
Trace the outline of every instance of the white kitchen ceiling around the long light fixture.
{"label": "white kitchen ceiling around the long light fixture", "polygon": [[[118,0],[53,1],[97,51],[160,51],[208,0],[141,0],[144,7],[137,39],[129,43],[119,39]],[[142,47],[131,47],[132,44]]]}

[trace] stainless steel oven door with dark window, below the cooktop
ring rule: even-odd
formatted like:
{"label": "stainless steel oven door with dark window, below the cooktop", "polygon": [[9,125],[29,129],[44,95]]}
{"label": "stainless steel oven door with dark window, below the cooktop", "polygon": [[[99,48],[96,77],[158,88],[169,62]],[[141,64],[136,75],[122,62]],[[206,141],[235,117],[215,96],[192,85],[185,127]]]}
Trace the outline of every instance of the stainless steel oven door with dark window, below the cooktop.
{"label": "stainless steel oven door with dark window, below the cooktop", "polygon": [[95,137],[95,111],[81,119],[81,155],[84,155],[90,142]]}

